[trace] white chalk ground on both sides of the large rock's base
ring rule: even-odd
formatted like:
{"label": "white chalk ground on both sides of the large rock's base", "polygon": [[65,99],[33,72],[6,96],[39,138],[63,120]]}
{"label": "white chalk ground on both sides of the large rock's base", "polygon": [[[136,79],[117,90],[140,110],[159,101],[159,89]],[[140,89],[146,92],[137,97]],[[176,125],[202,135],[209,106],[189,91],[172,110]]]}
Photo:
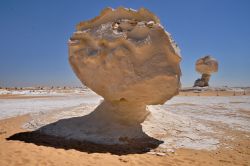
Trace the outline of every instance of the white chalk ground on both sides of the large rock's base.
{"label": "white chalk ground on both sides of the large rock's base", "polygon": [[[94,93],[60,97],[0,99],[0,119],[31,113],[24,128],[35,130],[59,119],[87,115],[102,100]],[[193,148],[213,150],[223,139],[234,139],[224,129],[250,132],[250,96],[176,96],[164,105],[148,106],[151,115],[143,131],[164,141],[155,151]],[[230,147],[228,147],[230,148]]]}

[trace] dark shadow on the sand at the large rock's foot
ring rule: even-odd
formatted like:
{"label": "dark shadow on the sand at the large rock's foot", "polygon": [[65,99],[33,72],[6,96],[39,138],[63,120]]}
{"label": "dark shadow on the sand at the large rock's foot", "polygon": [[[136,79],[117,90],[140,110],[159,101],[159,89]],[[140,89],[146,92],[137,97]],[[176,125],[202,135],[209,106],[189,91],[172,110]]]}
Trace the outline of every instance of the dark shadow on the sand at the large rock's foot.
{"label": "dark shadow on the sand at the large rock's foot", "polygon": [[67,140],[65,138],[42,134],[39,131],[17,133],[7,140],[18,140],[58,149],[75,149],[87,153],[111,153],[115,155],[143,154],[157,148],[162,141],[154,138],[129,140],[127,144],[103,145],[88,141]]}

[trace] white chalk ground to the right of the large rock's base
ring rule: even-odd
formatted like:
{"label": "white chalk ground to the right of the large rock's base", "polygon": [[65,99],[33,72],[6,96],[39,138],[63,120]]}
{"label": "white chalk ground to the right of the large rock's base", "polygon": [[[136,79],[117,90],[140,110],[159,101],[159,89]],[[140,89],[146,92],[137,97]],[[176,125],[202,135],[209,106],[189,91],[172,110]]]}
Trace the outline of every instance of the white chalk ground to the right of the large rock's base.
{"label": "white chalk ground to the right of the large rock's base", "polygon": [[150,106],[150,110],[152,117],[144,128],[164,141],[158,150],[213,150],[222,145],[220,140],[233,139],[222,127],[250,132],[250,96],[177,96],[163,106]]}

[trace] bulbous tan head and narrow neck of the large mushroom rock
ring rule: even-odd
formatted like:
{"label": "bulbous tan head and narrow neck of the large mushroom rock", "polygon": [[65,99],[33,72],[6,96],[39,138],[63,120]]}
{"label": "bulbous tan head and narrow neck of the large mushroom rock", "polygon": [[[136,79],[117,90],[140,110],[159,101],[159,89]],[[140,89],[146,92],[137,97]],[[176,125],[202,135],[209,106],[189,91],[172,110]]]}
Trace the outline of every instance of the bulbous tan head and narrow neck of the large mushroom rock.
{"label": "bulbous tan head and narrow neck of the large mushroom rock", "polygon": [[103,96],[109,118],[142,122],[146,105],[163,104],[178,94],[179,48],[146,9],[104,9],[79,23],[68,45],[72,69]]}

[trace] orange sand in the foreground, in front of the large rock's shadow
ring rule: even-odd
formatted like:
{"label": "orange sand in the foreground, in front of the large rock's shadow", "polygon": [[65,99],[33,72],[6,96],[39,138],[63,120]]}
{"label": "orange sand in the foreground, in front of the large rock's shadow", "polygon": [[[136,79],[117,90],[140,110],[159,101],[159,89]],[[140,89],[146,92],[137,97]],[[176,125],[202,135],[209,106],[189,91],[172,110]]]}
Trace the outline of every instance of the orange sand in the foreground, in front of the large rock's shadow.
{"label": "orange sand in the foreground, in front of the large rock's shadow", "polygon": [[[6,140],[24,130],[20,127],[29,116],[0,121],[0,165],[250,165],[249,133],[235,132],[230,149],[213,151],[178,149],[165,156],[151,154],[116,155],[87,153],[75,149],[65,150],[33,143]],[[228,131],[232,132],[232,131]],[[60,144],[60,142],[58,142]]]}

